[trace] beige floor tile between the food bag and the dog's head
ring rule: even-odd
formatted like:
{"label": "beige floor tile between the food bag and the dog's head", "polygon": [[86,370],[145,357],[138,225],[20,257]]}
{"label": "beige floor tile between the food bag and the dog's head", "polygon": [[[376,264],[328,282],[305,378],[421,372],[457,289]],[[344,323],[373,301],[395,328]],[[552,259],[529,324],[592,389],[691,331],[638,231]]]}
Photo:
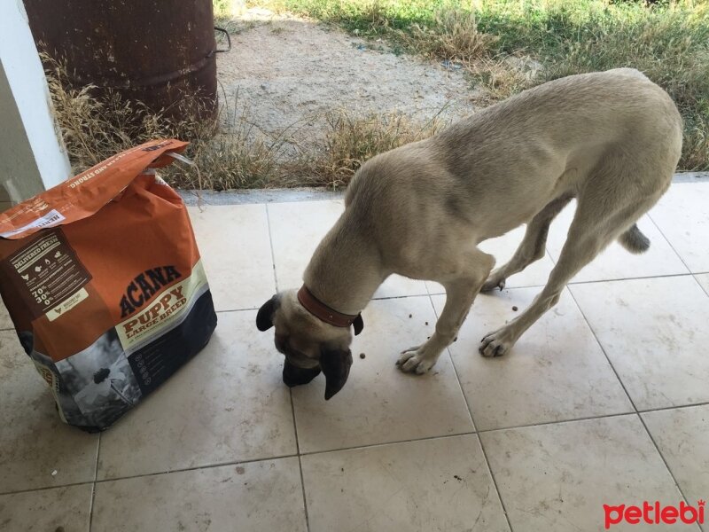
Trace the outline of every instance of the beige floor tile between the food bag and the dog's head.
{"label": "beige floor tile between the food bag and the dog's head", "polygon": [[98,478],[295,454],[283,356],[256,312],[222,312],[207,347],[101,436]]}

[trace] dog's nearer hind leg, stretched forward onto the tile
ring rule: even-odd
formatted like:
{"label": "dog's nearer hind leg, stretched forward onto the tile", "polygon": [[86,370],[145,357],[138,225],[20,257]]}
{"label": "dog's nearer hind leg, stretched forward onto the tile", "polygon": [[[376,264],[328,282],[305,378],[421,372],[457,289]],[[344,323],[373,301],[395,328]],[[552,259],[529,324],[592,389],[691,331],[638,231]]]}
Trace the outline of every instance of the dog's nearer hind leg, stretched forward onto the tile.
{"label": "dog's nearer hind leg, stretched forward onto the tile", "polygon": [[613,239],[628,231],[659,198],[657,194],[635,204],[609,206],[604,203],[607,197],[588,196],[579,198],[579,207],[547,285],[522,314],[482,339],[479,347],[482,356],[502,356],[510,350],[530,325],[557,304],[566,283]]}

